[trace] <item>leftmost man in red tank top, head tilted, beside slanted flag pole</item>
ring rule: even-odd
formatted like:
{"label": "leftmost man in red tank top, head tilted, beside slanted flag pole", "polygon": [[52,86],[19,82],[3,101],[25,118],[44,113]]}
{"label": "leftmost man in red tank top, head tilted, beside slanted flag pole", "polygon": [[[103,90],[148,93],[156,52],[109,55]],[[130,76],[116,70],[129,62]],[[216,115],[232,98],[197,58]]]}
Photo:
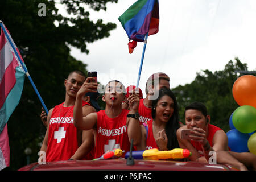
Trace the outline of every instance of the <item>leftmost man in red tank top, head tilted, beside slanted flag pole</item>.
{"label": "leftmost man in red tank top, head tilted, beside slanted flag pole", "polygon": [[[77,130],[73,125],[73,106],[77,91],[81,88],[85,77],[81,71],[69,73],[64,82],[65,101],[49,110],[46,135],[41,147],[41,151],[46,152],[46,162],[82,159],[92,150],[93,131],[86,131],[82,139],[82,131]],[[87,102],[83,101],[82,106],[84,115],[95,112]]]}

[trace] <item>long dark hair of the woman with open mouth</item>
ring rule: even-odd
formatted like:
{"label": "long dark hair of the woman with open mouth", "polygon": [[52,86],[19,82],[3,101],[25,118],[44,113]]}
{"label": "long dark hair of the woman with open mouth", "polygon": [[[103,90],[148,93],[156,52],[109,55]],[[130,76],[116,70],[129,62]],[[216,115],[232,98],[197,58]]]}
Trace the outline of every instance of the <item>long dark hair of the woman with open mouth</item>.
{"label": "long dark hair of the woman with open mouth", "polygon": [[159,90],[159,96],[156,100],[152,101],[152,118],[154,119],[156,116],[155,107],[158,104],[158,101],[163,96],[170,96],[174,101],[174,113],[172,113],[171,118],[166,123],[165,131],[168,138],[167,148],[168,150],[172,150],[174,148],[179,148],[179,143],[177,141],[176,131],[179,129],[179,107],[177,105],[177,100],[174,93],[169,88],[162,88]]}

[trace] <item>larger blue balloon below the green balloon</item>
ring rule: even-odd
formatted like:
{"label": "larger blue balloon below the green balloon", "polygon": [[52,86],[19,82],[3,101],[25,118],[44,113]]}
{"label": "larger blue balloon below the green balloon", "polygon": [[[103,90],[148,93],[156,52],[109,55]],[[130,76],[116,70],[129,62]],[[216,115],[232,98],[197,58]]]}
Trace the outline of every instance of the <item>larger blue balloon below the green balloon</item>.
{"label": "larger blue balloon below the green balloon", "polygon": [[228,146],[233,152],[247,152],[249,134],[241,133],[236,129],[229,130],[226,135],[228,136]]}

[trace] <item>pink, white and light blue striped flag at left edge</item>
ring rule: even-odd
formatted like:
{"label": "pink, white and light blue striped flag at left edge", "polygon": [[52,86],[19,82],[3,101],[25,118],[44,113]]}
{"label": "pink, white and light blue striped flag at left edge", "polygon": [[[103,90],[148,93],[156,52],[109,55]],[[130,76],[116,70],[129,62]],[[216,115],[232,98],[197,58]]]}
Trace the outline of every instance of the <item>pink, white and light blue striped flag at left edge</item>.
{"label": "pink, white and light blue striped flag at left edge", "polygon": [[[1,26],[3,25],[2,22]],[[4,25],[3,25],[4,26]],[[5,27],[16,52],[10,33]],[[20,56],[20,53],[19,53]],[[20,56],[20,59],[22,57]],[[23,60],[22,60],[23,61]],[[23,63],[24,64],[24,63]],[[0,35],[0,170],[9,166],[10,148],[7,133],[7,121],[19,104],[20,96],[24,85],[25,72],[1,28]]]}

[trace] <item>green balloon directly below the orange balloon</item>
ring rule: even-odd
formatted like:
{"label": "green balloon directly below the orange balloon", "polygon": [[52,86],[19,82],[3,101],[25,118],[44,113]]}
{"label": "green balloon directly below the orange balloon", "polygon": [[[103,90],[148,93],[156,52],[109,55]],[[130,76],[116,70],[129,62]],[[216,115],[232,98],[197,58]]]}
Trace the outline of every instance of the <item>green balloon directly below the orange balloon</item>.
{"label": "green balloon directly below the orange balloon", "polygon": [[242,133],[251,133],[256,130],[256,109],[253,106],[238,107],[232,117],[233,125]]}

